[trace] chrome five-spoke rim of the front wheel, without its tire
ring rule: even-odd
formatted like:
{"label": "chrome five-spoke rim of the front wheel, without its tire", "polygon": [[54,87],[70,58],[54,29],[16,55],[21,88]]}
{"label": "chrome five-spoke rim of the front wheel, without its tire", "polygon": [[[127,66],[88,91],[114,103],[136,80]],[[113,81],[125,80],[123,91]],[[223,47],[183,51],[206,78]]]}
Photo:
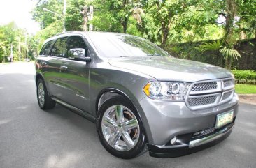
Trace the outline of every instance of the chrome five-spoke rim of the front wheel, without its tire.
{"label": "chrome five-spoke rim of the front wheel, without its tire", "polygon": [[136,116],[122,105],[113,105],[104,112],[101,129],[106,142],[118,151],[134,148],[140,135]]}

